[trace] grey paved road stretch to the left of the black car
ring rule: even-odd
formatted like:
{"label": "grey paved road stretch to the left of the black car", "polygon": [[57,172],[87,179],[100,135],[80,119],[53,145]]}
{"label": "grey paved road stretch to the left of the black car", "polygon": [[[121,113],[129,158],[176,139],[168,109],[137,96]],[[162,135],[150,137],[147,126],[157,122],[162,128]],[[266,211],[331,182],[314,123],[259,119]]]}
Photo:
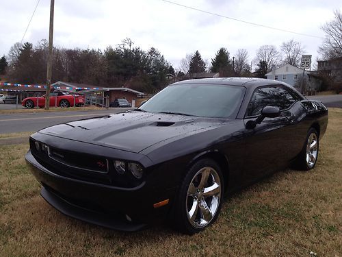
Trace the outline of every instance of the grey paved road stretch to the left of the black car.
{"label": "grey paved road stretch to the left of the black car", "polygon": [[76,121],[128,110],[127,108],[110,108],[109,110],[62,111],[62,112],[28,112],[18,114],[0,114],[0,134],[12,132],[35,132],[44,127],[58,123]]}

